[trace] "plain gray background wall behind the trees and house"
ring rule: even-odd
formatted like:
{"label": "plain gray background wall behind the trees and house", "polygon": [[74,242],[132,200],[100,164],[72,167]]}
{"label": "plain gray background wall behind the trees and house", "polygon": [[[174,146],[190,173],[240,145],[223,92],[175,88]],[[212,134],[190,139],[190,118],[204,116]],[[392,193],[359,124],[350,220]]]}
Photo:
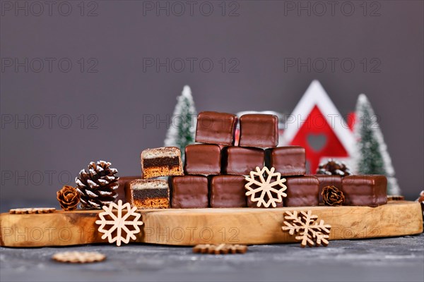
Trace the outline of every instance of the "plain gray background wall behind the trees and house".
{"label": "plain gray background wall behind the trees and house", "polygon": [[[1,1],[1,204],[54,203],[91,160],[139,174],[139,153],[163,145],[167,130],[143,128],[143,117],[172,114],[185,84],[198,111],[290,113],[313,79],[341,114],[367,94],[401,189],[409,199],[423,189],[423,1],[339,1],[333,11],[302,1],[310,16],[292,10],[298,1],[227,1],[225,16],[222,1],[194,1],[192,15],[179,2],[180,16],[167,1],[169,16],[150,10],[156,1],[86,1],[83,10],[57,1],[51,11],[45,1],[18,2]],[[150,58],[175,64],[156,71]],[[187,58],[197,59],[192,71]],[[310,70],[287,65],[308,58]]]}

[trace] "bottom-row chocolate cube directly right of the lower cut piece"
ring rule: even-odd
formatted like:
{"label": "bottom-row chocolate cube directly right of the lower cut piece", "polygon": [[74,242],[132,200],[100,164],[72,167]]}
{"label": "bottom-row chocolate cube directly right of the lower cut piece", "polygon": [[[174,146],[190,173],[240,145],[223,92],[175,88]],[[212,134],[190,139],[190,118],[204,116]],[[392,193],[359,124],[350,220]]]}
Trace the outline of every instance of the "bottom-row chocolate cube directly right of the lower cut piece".
{"label": "bottom-row chocolate cube directly right of the lower cut piece", "polygon": [[206,176],[172,176],[172,208],[206,208],[208,201],[208,178]]}

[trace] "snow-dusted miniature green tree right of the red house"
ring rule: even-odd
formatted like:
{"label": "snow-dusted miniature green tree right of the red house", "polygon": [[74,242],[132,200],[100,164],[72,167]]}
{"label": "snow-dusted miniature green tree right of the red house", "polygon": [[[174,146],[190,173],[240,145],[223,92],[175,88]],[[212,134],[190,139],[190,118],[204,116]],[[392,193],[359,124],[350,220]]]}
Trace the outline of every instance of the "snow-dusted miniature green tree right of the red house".
{"label": "snow-dusted miniature green tree right of the red house", "polygon": [[357,138],[356,172],[358,174],[382,174],[387,177],[387,194],[399,195],[400,189],[394,177],[394,168],[387,152],[382,131],[372,106],[365,94],[360,94],[356,104],[355,137]]}

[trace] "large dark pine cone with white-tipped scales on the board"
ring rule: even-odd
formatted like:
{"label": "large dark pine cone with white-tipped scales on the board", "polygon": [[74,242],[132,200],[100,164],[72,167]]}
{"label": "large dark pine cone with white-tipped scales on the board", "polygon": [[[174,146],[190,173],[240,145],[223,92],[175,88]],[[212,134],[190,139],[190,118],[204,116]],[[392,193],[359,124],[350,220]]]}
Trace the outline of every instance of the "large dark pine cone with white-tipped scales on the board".
{"label": "large dark pine cone with white-tipped scales on the board", "polygon": [[91,161],[88,171],[82,169],[75,178],[76,189],[81,194],[82,209],[101,209],[105,204],[117,198],[119,177],[116,168],[110,168],[110,162]]}

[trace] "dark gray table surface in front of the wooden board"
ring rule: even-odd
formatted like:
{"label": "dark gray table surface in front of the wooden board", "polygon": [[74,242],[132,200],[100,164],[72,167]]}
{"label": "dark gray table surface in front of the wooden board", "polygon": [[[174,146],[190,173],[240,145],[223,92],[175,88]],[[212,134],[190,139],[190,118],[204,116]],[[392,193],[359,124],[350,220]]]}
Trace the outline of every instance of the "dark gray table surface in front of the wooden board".
{"label": "dark gray table surface in front of the wooden board", "polygon": [[[105,262],[63,264],[56,252],[98,251]],[[328,247],[253,245],[244,255],[191,247],[84,245],[0,248],[1,281],[424,281],[424,234],[331,241]]]}

